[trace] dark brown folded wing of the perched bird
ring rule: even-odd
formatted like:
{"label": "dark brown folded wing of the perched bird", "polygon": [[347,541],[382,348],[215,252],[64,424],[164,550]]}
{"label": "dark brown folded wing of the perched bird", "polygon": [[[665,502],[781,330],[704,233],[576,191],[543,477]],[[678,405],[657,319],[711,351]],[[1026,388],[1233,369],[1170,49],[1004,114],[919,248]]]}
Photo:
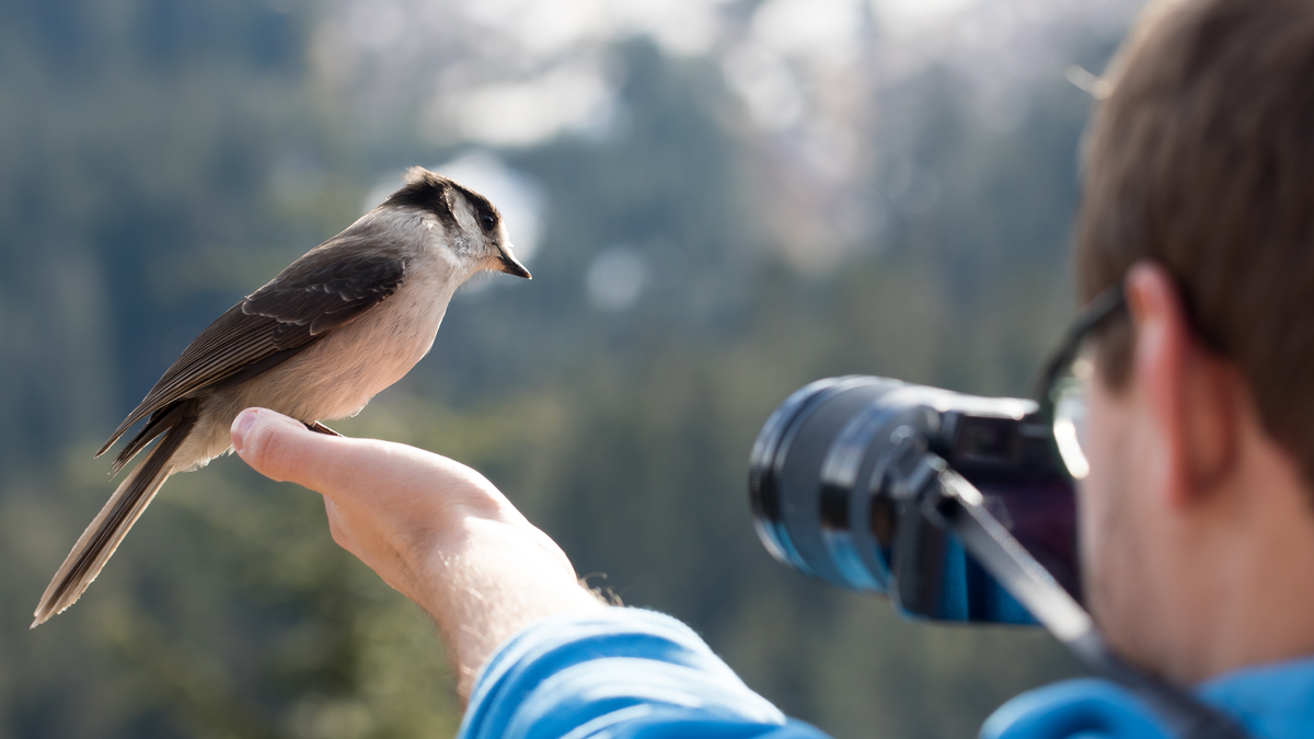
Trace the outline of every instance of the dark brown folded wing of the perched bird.
{"label": "dark brown folded wing of the perched bird", "polygon": [[[142,418],[197,391],[250,380],[397,292],[406,260],[397,249],[373,246],[363,252],[365,239],[339,235],[317,246],[219,316],[183,350],[96,456]],[[137,451],[129,447],[125,454]]]}

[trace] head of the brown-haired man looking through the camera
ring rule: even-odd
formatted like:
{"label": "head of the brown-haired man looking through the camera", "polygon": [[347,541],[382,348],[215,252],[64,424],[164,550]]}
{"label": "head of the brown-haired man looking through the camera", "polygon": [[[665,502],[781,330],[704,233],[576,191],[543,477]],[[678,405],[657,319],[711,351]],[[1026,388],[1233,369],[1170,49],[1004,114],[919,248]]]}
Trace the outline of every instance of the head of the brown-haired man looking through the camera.
{"label": "head of the brown-haired man looking through the camera", "polygon": [[1109,82],[1076,227],[1081,296],[1129,308],[1091,397],[1092,608],[1183,680],[1314,651],[1314,3],[1160,3]]}

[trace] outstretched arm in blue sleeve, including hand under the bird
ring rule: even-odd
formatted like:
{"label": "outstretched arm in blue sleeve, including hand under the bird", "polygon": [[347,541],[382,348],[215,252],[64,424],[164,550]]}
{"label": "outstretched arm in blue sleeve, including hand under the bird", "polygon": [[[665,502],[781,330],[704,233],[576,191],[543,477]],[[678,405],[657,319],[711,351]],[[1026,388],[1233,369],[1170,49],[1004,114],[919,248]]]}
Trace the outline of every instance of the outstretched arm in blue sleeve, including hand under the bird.
{"label": "outstretched arm in blue sleeve, including hand under the bird", "polygon": [[463,739],[824,739],[687,626],[604,606],[469,467],[265,409],[237,417],[233,443],[258,472],[322,493],[334,539],[434,618],[469,701]]}

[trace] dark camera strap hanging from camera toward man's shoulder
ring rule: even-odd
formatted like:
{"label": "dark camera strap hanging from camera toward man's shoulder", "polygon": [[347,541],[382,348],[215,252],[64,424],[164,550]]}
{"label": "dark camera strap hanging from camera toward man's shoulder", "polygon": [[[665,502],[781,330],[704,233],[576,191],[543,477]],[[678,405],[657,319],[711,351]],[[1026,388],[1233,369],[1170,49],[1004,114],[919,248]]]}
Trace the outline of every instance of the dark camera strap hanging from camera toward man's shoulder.
{"label": "dark camera strap hanging from camera toward man's shoulder", "polygon": [[[1144,701],[1180,739],[1250,739],[1233,718],[1118,657],[1091,614],[1013,538],[984,506],[971,483],[926,452],[909,483],[922,515],[953,531],[975,559],[1088,669]],[[921,483],[921,484],[917,484]]]}

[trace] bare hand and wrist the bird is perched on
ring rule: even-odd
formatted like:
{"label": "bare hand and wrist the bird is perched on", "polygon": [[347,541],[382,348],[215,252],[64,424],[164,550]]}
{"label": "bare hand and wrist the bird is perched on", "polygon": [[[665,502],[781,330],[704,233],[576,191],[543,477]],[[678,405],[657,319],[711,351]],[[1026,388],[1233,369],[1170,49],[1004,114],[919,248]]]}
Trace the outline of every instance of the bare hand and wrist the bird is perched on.
{"label": "bare hand and wrist the bird is perched on", "polygon": [[325,497],[332,538],[424,609],[468,700],[478,669],[512,634],[548,615],[606,606],[561,547],[482,475],[436,454],[327,437],[267,409],[233,422],[256,472]]}

